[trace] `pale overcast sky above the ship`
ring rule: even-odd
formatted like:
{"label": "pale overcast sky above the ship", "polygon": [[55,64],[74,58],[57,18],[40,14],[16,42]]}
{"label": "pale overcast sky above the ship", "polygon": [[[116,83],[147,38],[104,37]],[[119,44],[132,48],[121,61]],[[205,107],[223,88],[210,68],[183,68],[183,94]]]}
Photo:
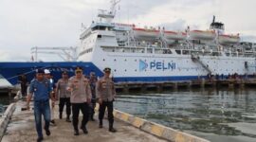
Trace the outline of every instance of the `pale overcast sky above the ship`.
{"label": "pale overcast sky above the ship", "polygon": [[[255,0],[121,0],[116,22],[207,29],[215,15],[227,33],[256,42],[255,6]],[[78,46],[82,23],[88,27],[98,9],[109,9],[109,0],[0,0],[0,62],[29,61],[32,46]]]}

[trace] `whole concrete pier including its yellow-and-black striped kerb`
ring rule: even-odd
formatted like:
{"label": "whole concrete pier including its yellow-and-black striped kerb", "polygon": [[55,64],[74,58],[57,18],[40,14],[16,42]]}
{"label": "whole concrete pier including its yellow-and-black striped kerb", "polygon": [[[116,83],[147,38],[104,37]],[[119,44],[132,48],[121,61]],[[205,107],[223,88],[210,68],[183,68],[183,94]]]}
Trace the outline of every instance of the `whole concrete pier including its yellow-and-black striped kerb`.
{"label": "whole concrete pier including its yellow-and-black striped kerb", "polygon": [[[15,107],[14,107],[15,106]],[[11,104],[7,114],[11,119],[6,128],[2,142],[32,142],[36,141],[33,111],[21,111],[26,106],[26,101],[18,101]],[[14,109],[15,108],[15,109]],[[13,112],[13,115],[11,114]],[[55,108],[55,118],[58,115],[58,106]],[[200,137],[188,133],[175,131],[147,120],[137,118],[115,110],[115,128],[117,133],[108,132],[108,122],[104,120],[104,128],[98,128],[98,121],[90,121],[87,124],[88,134],[80,132],[79,136],[73,135],[73,127],[65,119],[56,119],[57,126],[50,126],[51,135],[44,135],[46,142],[209,142]],[[96,116],[97,117],[97,116]],[[81,118],[80,118],[81,120]],[[5,122],[7,123],[7,122]],[[1,127],[3,130],[4,128]]]}

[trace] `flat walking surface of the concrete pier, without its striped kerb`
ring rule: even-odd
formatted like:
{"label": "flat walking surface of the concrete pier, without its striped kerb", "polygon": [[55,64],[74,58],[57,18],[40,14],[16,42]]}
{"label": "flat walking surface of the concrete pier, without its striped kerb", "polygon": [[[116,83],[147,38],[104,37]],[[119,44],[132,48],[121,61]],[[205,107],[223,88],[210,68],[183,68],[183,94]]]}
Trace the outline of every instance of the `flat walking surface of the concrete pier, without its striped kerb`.
{"label": "flat walking surface of the concrete pier, without its striped kerb", "polygon": [[[19,101],[16,106],[16,110],[11,116],[7,131],[2,139],[2,142],[32,142],[36,141],[37,133],[34,124],[33,111],[21,111],[21,107],[25,106],[24,101]],[[56,108],[57,110],[57,108]],[[55,113],[57,114],[57,111]],[[81,120],[82,118],[80,118]],[[44,138],[46,142],[82,142],[86,140],[87,142],[95,141],[106,141],[106,142],[164,142],[155,137],[152,134],[144,133],[136,128],[128,125],[127,123],[116,120],[115,127],[118,129],[118,133],[108,132],[108,122],[104,121],[104,128],[98,128],[98,121],[90,121],[87,125],[88,134],[83,134],[80,132],[79,136],[73,135],[73,126],[70,122],[65,122],[64,119],[56,120],[57,126],[51,126],[51,135]]]}

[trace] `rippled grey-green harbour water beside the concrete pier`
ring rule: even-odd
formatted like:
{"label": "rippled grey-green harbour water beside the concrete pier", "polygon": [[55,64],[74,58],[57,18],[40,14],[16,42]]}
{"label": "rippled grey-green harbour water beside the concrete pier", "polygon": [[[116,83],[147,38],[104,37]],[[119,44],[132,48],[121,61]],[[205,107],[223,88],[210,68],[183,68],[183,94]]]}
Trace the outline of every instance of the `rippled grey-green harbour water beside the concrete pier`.
{"label": "rippled grey-green harbour water beside the concrete pier", "polygon": [[[212,142],[255,142],[255,94],[256,89],[225,88],[135,92],[120,94],[115,108]],[[0,96],[2,107],[10,101],[9,96]]]}

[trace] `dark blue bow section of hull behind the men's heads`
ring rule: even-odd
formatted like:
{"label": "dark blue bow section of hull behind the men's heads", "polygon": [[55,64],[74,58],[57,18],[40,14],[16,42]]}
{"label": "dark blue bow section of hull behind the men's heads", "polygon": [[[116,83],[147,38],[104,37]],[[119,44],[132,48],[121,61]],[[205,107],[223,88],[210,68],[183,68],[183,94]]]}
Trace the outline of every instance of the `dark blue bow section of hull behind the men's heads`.
{"label": "dark blue bow section of hull behind the men's heads", "polygon": [[73,76],[76,66],[83,67],[84,75],[93,71],[97,76],[103,76],[101,70],[92,62],[0,62],[0,74],[14,85],[20,74],[26,74],[28,81],[32,80],[35,77],[35,69],[38,68],[51,70],[54,80],[59,80],[64,69],[68,70],[69,76]]}

